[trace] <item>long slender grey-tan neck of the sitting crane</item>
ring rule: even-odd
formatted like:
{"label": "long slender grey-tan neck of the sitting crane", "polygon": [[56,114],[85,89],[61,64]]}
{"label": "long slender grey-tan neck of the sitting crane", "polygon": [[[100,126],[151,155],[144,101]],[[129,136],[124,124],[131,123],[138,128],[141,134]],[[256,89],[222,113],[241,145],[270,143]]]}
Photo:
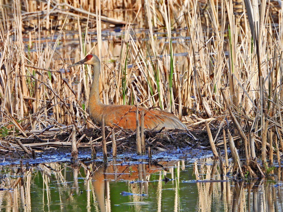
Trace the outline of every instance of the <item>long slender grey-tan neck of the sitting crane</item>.
{"label": "long slender grey-tan neck of the sitting crane", "polygon": [[89,94],[89,105],[96,105],[100,102],[99,99],[99,75],[100,75],[100,65],[99,66],[92,66],[93,67],[93,81],[90,88]]}

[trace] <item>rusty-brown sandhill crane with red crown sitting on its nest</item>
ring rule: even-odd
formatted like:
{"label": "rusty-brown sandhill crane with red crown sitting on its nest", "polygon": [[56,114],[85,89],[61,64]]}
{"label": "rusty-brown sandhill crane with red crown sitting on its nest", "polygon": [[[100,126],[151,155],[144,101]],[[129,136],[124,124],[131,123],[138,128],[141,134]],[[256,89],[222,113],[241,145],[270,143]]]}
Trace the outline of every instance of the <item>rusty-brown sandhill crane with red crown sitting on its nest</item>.
{"label": "rusty-brown sandhill crane with red crown sitting on its nest", "polygon": [[[93,66],[93,82],[89,95],[88,112],[93,122],[99,126],[118,125],[124,129],[136,129],[136,106],[133,105],[105,105],[100,102],[98,93],[98,80],[100,75],[100,60],[96,55],[87,55],[85,59],[76,62],[69,67],[89,64]],[[159,111],[138,107],[139,111],[144,110],[144,127],[148,129],[179,128],[186,129],[186,126],[173,114],[167,111]],[[140,118],[140,115],[139,115]]]}

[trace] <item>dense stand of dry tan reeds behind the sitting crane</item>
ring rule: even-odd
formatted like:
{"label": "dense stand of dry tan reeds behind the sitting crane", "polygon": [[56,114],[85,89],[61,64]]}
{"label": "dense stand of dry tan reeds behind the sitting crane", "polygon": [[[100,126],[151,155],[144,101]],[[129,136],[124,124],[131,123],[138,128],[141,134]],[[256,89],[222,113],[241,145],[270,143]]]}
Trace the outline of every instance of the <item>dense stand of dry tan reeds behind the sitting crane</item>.
{"label": "dense stand of dry tan reeds behind the sitting crane", "polygon": [[[74,126],[82,140],[84,129],[96,127],[86,111],[91,68],[66,69],[95,53],[103,103],[160,107],[189,129],[203,129],[206,120],[216,129],[210,139],[216,146],[230,139],[235,150],[243,148],[249,177],[266,174],[273,158],[280,164],[283,10],[275,2],[8,3],[0,6],[2,151],[15,137],[57,136]],[[120,34],[102,38],[109,27]],[[252,165],[256,157],[261,167]],[[235,163],[243,177],[243,164]]]}

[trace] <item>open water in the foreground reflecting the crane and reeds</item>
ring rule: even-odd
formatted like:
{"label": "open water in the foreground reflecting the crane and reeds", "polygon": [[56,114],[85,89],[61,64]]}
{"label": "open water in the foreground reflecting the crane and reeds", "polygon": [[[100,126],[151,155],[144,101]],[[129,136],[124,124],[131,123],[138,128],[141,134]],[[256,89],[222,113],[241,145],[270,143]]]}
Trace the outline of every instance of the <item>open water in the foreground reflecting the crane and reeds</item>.
{"label": "open water in the foreground reflecting the crane and reeds", "polygon": [[[229,169],[229,167],[228,167]],[[224,171],[226,172],[228,169]],[[280,168],[278,170],[280,175]],[[0,208],[24,211],[280,211],[282,184],[220,178],[212,158],[1,167]],[[31,201],[32,200],[32,201]]]}

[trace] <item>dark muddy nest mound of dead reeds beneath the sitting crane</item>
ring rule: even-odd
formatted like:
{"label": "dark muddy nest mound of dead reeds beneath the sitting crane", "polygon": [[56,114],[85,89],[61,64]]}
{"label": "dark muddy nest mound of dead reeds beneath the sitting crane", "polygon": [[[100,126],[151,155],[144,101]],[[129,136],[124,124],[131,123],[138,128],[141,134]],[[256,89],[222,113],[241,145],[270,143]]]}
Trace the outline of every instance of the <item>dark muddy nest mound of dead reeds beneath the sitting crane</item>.
{"label": "dark muddy nest mound of dead reeds beneath the sitting crane", "polygon": [[[136,152],[136,131],[124,129],[112,129],[105,127],[105,140],[107,152],[112,151],[112,130],[115,133],[117,152]],[[27,138],[6,136],[1,141],[0,153],[6,154],[7,157],[32,157],[50,149],[66,148],[70,151],[72,145],[72,132],[75,132],[76,146],[80,148],[91,149],[91,144],[96,152],[102,151],[102,130],[101,128],[82,129],[80,133],[66,128],[64,130],[46,130],[42,133],[30,133]],[[146,150],[166,151],[178,148],[203,148],[208,146],[206,131],[200,128],[196,130],[145,130]],[[23,153],[24,152],[24,153]]]}

